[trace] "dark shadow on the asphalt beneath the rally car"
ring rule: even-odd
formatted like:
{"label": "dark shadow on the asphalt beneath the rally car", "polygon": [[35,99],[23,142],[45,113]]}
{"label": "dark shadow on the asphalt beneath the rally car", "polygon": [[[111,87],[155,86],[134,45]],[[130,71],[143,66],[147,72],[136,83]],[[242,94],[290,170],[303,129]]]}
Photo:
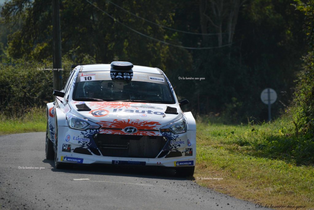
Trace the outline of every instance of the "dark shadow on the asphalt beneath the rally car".
{"label": "dark shadow on the asphalt beneath the rally car", "polygon": [[49,163],[53,172],[73,173],[73,174],[95,174],[124,177],[138,177],[151,179],[168,179],[168,180],[195,180],[194,177],[176,177],[174,169],[164,167],[133,167],[133,166],[114,166],[106,164],[67,164],[62,169],[56,169],[53,160],[43,160]]}

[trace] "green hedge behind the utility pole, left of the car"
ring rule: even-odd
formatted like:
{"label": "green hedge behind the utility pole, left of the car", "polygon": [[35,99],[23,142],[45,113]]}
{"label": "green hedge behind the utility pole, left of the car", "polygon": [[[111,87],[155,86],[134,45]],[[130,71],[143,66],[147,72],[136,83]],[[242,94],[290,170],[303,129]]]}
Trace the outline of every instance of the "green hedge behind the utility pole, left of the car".
{"label": "green hedge behind the utility pole, left of the car", "polygon": [[[62,78],[66,81],[71,61],[62,60]],[[2,59],[0,64],[0,111],[8,116],[23,116],[27,109],[43,107],[53,100],[53,72],[37,68],[51,68],[51,61]]]}

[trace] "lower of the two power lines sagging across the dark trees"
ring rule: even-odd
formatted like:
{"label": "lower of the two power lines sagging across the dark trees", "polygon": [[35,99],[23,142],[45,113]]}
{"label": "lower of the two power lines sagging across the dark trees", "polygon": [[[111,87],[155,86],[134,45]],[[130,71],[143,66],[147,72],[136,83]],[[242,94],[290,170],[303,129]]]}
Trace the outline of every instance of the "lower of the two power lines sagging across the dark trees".
{"label": "lower of the two power lines sagging across the dark trees", "polygon": [[142,35],[144,37],[147,37],[149,39],[152,39],[154,41],[157,41],[157,42],[160,42],[160,43],[163,43],[163,44],[166,44],[166,45],[171,45],[171,46],[174,46],[174,47],[178,47],[178,48],[184,48],[184,49],[215,49],[215,48],[223,48],[223,47],[227,47],[227,46],[230,46],[231,44],[225,44],[225,45],[222,45],[222,46],[216,46],[216,47],[202,47],[202,48],[192,48],[192,47],[184,47],[184,46],[181,46],[181,45],[176,45],[176,44],[171,44],[171,43],[168,43],[168,42],[165,42],[165,41],[162,41],[162,40],[159,40],[159,39],[156,39],[154,37],[150,37],[146,34],[143,34],[139,31],[136,31],[135,29],[125,25],[124,23],[120,22],[119,20],[117,20],[116,18],[114,18],[113,16],[111,16],[110,14],[108,14],[107,12],[105,12],[104,10],[100,9],[99,7],[97,7],[96,5],[94,5],[93,3],[91,3],[89,0],[85,0],[87,1],[89,4],[93,5],[96,9],[100,10],[101,12],[105,13],[107,16],[109,16],[110,18],[112,18],[113,20],[115,20],[116,22],[120,23],[122,26],[130,29],[131,31],[134,31],[135,33],[138,33],[139,35]]}

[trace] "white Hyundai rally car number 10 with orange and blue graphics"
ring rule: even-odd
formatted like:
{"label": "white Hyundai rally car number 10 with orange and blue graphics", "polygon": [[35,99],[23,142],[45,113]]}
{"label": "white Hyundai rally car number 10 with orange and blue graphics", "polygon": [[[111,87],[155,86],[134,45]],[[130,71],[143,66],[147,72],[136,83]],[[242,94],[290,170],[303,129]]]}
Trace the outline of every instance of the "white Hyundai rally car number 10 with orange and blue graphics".
{"label": "white Hyundai rally car number 10 with orange and blue graphics", "polygon": [[56,168],[102,163],[193,175],[196,123],[163,71],[118,61],[71,69],[46,107],[46,158]]}

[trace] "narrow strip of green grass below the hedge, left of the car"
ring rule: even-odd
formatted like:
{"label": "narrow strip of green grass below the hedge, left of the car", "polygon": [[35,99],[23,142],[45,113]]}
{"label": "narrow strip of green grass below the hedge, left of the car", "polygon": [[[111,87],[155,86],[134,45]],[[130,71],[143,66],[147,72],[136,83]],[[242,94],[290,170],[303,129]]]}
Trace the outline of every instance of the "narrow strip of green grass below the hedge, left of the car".
{"label": "narrow strip of green grass below the hedge, left of the car", "polygon": [[23,117],[0,114],[0,135],[10,133],[45,132],[46,111],[43,108],[28,110]]}

